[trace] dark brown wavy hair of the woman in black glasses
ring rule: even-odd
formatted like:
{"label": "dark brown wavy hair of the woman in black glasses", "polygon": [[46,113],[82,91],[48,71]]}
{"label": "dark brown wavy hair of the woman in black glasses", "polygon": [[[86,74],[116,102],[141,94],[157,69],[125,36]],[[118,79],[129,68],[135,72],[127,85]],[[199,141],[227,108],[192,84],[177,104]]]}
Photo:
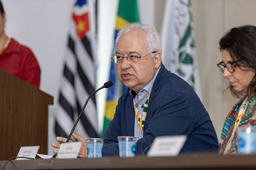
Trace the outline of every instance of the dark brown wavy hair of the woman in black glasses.
{"label": "dark brown wavy hair of the woman in black glasses", "polygon": [[[256,72],[256,27],[241,26],[230,29],[219,41],[219,49],[229,52],[233,61],[240,61],[240,66],[246,66]],[[239,64],[237,64],[239,67]],[[241,97],[241,92],[236,92],[230,85],[233,96]],[[247,86],[246,94],[250,99],[256,93],[256,76]]]}

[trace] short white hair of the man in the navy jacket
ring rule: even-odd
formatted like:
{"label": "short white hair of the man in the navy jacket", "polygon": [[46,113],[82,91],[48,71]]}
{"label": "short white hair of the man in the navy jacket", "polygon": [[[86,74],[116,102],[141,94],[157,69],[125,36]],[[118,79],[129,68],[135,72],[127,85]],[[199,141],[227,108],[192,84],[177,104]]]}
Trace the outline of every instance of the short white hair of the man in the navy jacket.
{"label": "short white hair of the man in the navy jacket", "polygon": [[[116,39],[116,45],[117,42],[120,38],[120,36],[124,33],[130,32],[130,31],[135,31],[135,30],[140,30],[146,37],[146,49],[149,52],[161,52],[162,53],[162,44],[161,44],[161,38],[159,33],[156,31],[155,26],[150,26],[142,23],[130,23],[127,26],[123,27],[117,34],[117,39]],[[153,57],[154,54],[151,54]]]}

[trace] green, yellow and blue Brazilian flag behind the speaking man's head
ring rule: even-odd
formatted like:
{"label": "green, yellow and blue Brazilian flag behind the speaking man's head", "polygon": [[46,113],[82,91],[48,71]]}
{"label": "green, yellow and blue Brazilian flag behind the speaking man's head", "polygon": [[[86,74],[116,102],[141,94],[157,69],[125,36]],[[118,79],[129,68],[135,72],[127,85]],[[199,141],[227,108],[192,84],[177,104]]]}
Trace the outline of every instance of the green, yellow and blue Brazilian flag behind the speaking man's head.
{"label": "green, yellow and blue Brazilian flag behind the speaking man's head", "polygon": [[[121,30],[122,27],[132,22],[139,22],[137,0],[119,0],[114,41],[116,41],[116,37],[119,30]],[[113,55],[115,51],[116,49],[114,47],[114,42],[113,42]],[[114,117],[118,98],[127,90],[127,87],[122,85],[118,80],[117,72],[116,72],[116,64],[113,62],[111,62],[109,80],[113,81],[114,85],[109,87],[107,92],[107,101],[106,101],[102,135],[105,133],[106,129],[110,124],[110,121]]]}

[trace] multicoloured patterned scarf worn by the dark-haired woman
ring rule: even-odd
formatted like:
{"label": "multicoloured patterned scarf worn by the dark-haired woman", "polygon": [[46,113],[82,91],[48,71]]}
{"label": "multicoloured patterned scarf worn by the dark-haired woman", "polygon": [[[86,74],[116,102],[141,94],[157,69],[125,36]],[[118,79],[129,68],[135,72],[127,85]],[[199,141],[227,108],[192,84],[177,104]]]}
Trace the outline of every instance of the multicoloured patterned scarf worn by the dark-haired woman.
{"label": "multicoloured patterned scarf worn by the dark-haired woman", "polygon": [[[245,96],[246,97],[246,96]],[[242,105],[242,102],[245,100],[245,97],[242,98],[238,103],[235,104],[235,106],[231,109],[229,112],[228,116],[226,117],[226,120],[223,125],[222,129],[222,135],[220,139],[220,144],[219,144],[219,154],[223,154],[225,151],[225,148],[228,145],[229,139],[232,135],[232,131],[234,129],[235,121],[238,116],[240,107]],[[241,118],[240,126],[256,126],[256,112],[255,112],[255,107],[256,106],[256,96],[253,96],[251,100],[249,101],[249,104],[245,110],[244,115]],[[236,154],[237,153],[237,148],[238,148],[238,138],[236,136],[237,130],[234,131],[234,138],[231,141],[230,144],[230,150],[227,154]]]}

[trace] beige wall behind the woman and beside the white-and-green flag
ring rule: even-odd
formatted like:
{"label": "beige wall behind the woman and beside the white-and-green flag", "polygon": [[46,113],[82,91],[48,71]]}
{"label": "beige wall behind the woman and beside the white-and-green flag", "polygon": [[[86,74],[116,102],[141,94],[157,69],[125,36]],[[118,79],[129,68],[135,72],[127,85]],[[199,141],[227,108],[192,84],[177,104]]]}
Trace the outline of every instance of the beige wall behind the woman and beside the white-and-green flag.
{"label": "beige wall behind the woman and beside the white-and-green flag", "polygon": [[[165,0],[156,0],[156,27],[161,30]],[[229,90],[217,63],[222,61],[218,41],[226,31],[246,24],[256,25],[255,0],[191,0],[203,104],[212,119],[218,139],[226,115],[238,98]]]}

